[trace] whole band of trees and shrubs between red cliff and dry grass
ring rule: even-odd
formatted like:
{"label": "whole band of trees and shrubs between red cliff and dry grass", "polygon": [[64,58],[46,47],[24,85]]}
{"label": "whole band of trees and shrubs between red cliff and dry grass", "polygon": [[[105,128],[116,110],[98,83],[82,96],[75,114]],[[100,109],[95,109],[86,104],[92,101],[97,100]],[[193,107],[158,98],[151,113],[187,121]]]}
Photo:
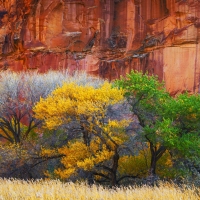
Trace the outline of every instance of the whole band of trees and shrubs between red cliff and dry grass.
{"label": "whole band of trees and shrubs between red cliff and dry grass", "polygon": [[[160,180],[199,187],[199,121],[200,95],[172,97],[155,76],[132,71],[108,83],[78,72],[4,72],[0,176],[106,187],[155,186]],[[180,190],[165,184],[152,195],[164,187],[177,195]],[[100,191],[95,188],[85,190]],[[115,191],[137,199],[131,190],[149,188]]]}

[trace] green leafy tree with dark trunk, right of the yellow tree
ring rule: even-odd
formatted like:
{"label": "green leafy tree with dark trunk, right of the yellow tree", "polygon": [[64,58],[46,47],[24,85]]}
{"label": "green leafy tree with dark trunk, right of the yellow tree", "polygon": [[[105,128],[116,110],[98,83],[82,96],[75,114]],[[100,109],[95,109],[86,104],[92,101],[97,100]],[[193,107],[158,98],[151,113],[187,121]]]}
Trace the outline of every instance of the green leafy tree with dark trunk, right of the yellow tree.
{"label": "green leafy tree with dark trunk, right of the yellow tree", "polygon": [[156,76],[132,71],[114,84],[125,90],[125,96],[137,115],[144,142],[149,143],[149,175],[155,176],[158,160],[168,149],[173,155],[199,157],[199,95],[181,94],[173,98]]}

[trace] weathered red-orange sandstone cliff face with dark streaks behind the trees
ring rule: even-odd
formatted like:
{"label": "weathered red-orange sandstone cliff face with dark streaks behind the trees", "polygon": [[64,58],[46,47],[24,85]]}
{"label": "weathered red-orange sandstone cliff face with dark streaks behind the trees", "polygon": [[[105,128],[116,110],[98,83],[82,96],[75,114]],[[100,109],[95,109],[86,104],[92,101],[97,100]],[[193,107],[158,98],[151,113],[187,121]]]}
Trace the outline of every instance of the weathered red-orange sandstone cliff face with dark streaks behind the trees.
{"label": "weathered red-orange sandstone cliff face with dark streaks behind the trees", "polygon": [[0,1],[1,69],[131,69],[167,89],[200,90],[200,0]]}

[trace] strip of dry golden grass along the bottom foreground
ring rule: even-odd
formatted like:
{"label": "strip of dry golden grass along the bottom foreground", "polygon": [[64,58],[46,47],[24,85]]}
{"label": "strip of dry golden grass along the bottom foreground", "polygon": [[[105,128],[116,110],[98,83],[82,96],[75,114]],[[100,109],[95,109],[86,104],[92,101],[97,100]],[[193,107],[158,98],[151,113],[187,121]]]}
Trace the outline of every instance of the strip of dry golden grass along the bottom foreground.
{"label": "strip of dry golden grass along the bottom foreground", "polygon": [[200,189],[178,188],[171,184],[158,187],[106,189],[60,181],[21,181],[0,179],[0,200],[199,200]]}

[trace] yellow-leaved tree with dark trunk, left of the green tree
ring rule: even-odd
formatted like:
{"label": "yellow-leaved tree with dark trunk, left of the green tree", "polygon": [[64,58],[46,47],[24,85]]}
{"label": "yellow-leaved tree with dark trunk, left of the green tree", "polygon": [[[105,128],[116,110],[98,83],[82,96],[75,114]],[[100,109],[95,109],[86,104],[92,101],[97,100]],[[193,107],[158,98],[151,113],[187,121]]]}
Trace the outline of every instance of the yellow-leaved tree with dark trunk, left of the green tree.
{"label": "yellow-leaved tree with dark trunk, left of the green tree", "polygon": [[108,82],[99,88],[64,83],[35,105],[35,117],[44,121],[45,128],[66,128],[73,124],[79,129],[62,148],[43,149],[43,156],[63,155],[63,167],[54,171],[58,177],[66,179],[83,169],[90,177],[117,184],[119,151],[127,140],[125,127],[129,122],[109,119],[106,114],[110,105],[122,100],[123,91],[112,88]]}

